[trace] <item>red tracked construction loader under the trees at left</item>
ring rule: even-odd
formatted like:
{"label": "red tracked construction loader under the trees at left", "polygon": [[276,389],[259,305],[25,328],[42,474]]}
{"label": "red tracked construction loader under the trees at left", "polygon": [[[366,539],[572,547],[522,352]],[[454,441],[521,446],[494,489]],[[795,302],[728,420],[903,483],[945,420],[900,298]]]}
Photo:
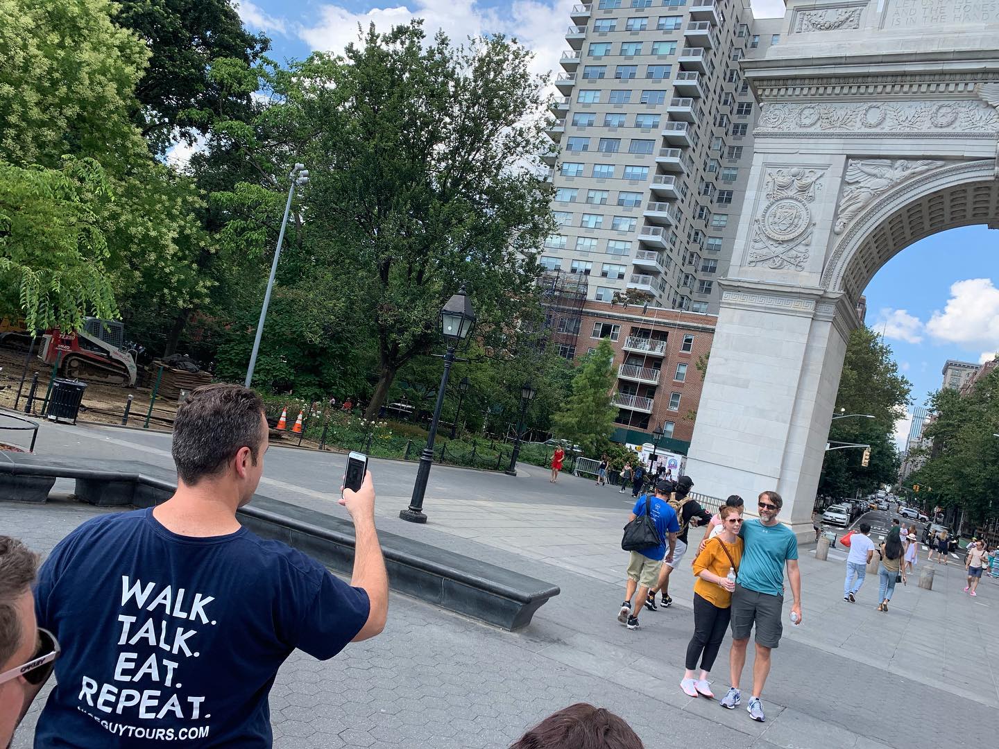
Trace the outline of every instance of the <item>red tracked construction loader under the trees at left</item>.
{"label": "red tracked construction loader under the trees at left", "polygon": [[125,326],[114,320],[87,318],[79,333],[58,329],[42,336],[38,358],[59,364],[59,374],[90,382],[135,386],[139,352],[125,342]]}

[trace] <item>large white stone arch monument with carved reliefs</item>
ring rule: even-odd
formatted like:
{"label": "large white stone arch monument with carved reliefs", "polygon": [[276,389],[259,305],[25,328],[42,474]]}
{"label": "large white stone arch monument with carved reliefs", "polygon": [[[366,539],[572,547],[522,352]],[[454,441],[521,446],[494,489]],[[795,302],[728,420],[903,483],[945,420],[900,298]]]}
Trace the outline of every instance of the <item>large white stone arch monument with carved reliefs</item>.
{"label": "large white stone arch monument with carved reliefs", "polygon": [[919,239],[999,228],[999,0],[786,8],[781,44],[742,61],[755,155],[687,472],[775,488],[802,535],[867,283]]}

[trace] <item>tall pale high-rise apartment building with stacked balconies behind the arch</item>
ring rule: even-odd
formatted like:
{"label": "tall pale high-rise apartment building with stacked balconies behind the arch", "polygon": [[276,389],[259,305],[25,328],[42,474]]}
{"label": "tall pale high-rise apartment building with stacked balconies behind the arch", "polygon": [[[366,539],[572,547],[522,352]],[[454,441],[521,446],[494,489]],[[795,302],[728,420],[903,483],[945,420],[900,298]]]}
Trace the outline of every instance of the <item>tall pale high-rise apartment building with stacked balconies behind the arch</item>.
{"label": "tall pale high-rise apartment building with stacked balconies behind the arch", "polygon": [[715,313],[757,114],[738,60],[782,21],[741,0],[593,0],[571,21],[540,262],[587,275],[589,300]]}

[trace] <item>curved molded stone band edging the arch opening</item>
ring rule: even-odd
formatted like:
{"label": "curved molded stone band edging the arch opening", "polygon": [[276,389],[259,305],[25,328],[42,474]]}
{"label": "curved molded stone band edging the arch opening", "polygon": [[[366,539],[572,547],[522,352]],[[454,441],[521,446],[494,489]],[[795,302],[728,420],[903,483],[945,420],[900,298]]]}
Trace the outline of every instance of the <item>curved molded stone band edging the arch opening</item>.
{"label": "curved molded stone band edging the arch opening", "polygon": [[845,291],[843,279],[864,240],[908,204],[947,188],[996,179],[996,160],[979,159],[942,167],[892,188],[871,201],[843,232],[826,261],[819,286],[828,291]]}

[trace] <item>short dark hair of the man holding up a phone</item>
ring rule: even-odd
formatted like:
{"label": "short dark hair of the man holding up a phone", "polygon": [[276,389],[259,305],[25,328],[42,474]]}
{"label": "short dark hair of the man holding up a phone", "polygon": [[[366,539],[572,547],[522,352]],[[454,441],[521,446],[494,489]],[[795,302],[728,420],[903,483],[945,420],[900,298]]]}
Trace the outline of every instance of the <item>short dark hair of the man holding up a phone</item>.
{"label": "short dark hair of the man holding up a phone", "polygon": [[218,475],[242,447],[250,448],[257,464],[263,438],[260,416],[264,401],[253,390],[238,384],[206,384],[185,398],[174,420],[171,453],[177,475],[194,485]]}

